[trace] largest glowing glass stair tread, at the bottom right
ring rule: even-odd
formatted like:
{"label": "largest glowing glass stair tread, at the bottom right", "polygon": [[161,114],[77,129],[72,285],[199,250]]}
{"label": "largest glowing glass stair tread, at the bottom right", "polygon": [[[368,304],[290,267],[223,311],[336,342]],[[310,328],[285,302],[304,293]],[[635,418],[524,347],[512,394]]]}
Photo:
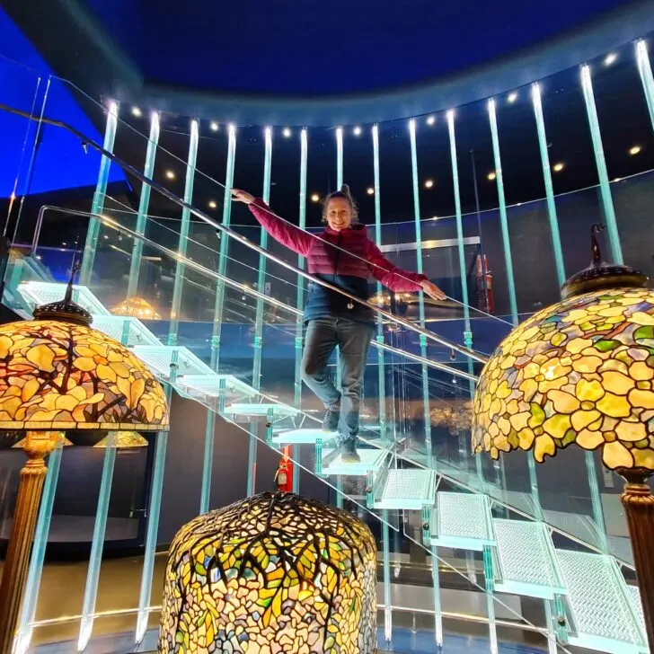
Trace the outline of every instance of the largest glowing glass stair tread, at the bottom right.
{"label": "largest glowing glass stair tread, at the bottom right", "polygon": [[555,552],[568,588],[570,645],[612,654],[640,654],[646,648],[645,638],[614,559],[604,554]]}

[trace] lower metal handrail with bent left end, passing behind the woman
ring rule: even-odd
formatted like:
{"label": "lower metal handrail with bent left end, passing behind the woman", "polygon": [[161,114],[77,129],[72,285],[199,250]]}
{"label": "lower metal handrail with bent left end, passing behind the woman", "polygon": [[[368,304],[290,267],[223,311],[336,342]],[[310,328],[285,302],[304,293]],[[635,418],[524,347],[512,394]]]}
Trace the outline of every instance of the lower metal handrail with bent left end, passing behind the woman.
{"label": "lower metal handrail with bent left end, passing behind the woman", "polygon": [[[187,268],[190,268],[192,270],[196,270],[197,272],[201,273],[202,275],[207,276],[208,278],[213,278],[217,281],[220,281],[225,284],[225,286],[235,288],[238,290],[240,293],[243,293],[243,295],[248,295],[255,297],[258,300],[262,300],[264,302],[267,302],[270,305],[273,305],[277,307],[278,309],[281,309],[283,311],[287,311],[289,314],[293,314],[296,317],[300,318],[303,315],[303,312],[296,308],[295,306],[290,306],[290,305],[285,305],[283,302],[280,300],[275,299],[274,297],[267,296],[264,293],[261,293],[260,291],[255,290],[254,288],[244,286],[240,282],[234,281],[234,279],[226,277],[225,275],[221,275],[219,272],[216,270],[211,270],[209,268],[206,268],[202,264],[198,263],[197,261],[193,261],[192,259],[189,259],[189,257],[180,254],[179,252],[175,252],[174,250],[171,250],[170,248],[165,247],[165,245],[162,245],[161,243],[156,243],[155,241],[150,240],[147,238],[146,235],[144,234],[137,234],[133,230],[129,229],[129,227],[126,227],[125,225],[121,225],[117,220],[114,220],[113,218],[110,218],[108,216],[104,216],[102,214],[93,214],[89,211],[81,211],[79,209],[68,209],[68,208],[63,208],[63,207],[55,207],[53,205],[43,205],[40,210],[39,210],[39,215],[37,217],[37,222],[36,222],[36,227],[34,230],[34,238],[32,239],[31,243],[31,253],[36,252],[38,245],[39,245],[39,235],[40,235],[40,227],[43,223],[43,217],[45,216],[46,211],[58,211],[60,213],[65,213],[68,214],[69,216],[80,216],[80,217],[95,217],[98,218],[104,225],[109,225],[113,229],[116,229],[117,231],[121,232],[122,234],[125,234],[126,236],[129,236],[130,238],[136,239],[140,241],[141,243],[145,243],[149,247],[153,248],[154,250],[157,250],[158,252],[162,252],[166,256],[170,257],[173,261],[179,261],[183,263]],[[446,364],[443,363],[438,363],[437,361],[430,361],[428,358],[423,358],[420,357],[420,355],[413,354],[411,352],[407,352],[404,349],[400,348],[394,348],[393,345],[388,345],[388,343],[384,342],[379,342],[378,340],[372,340],[371,341],[372,345],[374,345],[376,348],[384,349],[386,352],[390,352],[392,354],[396,354],[400,357],[408,358],[411,361],[415,361],[416,363],[423,364],[425,366],[429,366],[432,368],[435,368],[437,370],[443,370],[447,373],[451,373],[452,375],[455,376],[460,376],[463,377],[464,379],[467,379],[472,382],[477,381],[477,377],[474,375],[471,375],[470,373],[465,372],[464,370],[459,370],[458,368],[454,367],[449,367]]]}

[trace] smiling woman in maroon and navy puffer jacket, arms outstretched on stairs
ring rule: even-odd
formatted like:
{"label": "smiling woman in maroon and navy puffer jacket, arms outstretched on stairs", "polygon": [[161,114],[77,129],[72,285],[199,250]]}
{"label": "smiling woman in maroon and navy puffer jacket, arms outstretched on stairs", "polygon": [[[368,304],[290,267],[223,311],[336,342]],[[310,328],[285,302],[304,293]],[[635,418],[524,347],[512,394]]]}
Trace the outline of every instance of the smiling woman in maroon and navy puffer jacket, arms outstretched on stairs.
{"label": "smiling woman in maroon and navy puffer jacket, arms outstretched on stairs", "polygon": [[[358,222],[357,203],[343,185],[323,204],[321,234],[309,234],[273,215],[262,199],[244,190],[232,190],[234,200],[250,207],[263,229],[282,245],[306,257],[308,271],[350,295],[367,300],[368,278],[372,274],[392,291],[423,290],[429,297],[445,299],[443,291],[425,275],[400,270],[388,261]],[[358,463],[358,413],[367,351],[375,329],[372,309],[335,291],[311,283],[305,305],[305,351],[302,378],[323,401],[323,430],[337,431],[341,460]],[[327,374],[331,353],[339,347],[341,388]]]}

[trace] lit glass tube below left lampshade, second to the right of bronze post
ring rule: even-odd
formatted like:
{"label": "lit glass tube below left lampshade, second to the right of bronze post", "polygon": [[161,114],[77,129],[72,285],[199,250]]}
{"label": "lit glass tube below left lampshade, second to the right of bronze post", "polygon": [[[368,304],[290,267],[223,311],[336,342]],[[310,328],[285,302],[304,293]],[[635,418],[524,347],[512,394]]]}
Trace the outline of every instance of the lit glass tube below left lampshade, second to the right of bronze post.
{"label": "lit glass tube below left lampshade, second to the right of bronze post", "polygon": [[104,451],[98,508],[95,511],[93,541],[91,543],[89,567],[86,572],[84,604],[82,606],[82,619],[80,621],[79,638],[77,640],[78,651],[84,651],[86,649],[93,632],[93,614],[95,613],[95,600],[98,597],[98,581],[100,579],[100,567],[102,565],[102,549],[104,547],[104,535],[107,530],[107,514],[109,513],[111,482],[113,481],[113,469],[115,464],[116,437],[115,432],[110,431],[109,436],[107,437],[107,449]]}

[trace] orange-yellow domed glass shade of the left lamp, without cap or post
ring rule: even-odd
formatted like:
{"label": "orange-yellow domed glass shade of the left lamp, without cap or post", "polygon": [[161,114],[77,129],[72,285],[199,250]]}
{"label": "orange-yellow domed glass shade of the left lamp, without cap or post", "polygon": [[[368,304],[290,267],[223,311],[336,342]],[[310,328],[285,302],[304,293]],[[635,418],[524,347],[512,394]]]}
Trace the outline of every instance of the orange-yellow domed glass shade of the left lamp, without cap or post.
{"label": "orange-yellow domed glass shade of the left lamp, without cap or post", "polygon": [[0,325],[2,429],[164,429],[161,384],[117,340],[83,324]]}

